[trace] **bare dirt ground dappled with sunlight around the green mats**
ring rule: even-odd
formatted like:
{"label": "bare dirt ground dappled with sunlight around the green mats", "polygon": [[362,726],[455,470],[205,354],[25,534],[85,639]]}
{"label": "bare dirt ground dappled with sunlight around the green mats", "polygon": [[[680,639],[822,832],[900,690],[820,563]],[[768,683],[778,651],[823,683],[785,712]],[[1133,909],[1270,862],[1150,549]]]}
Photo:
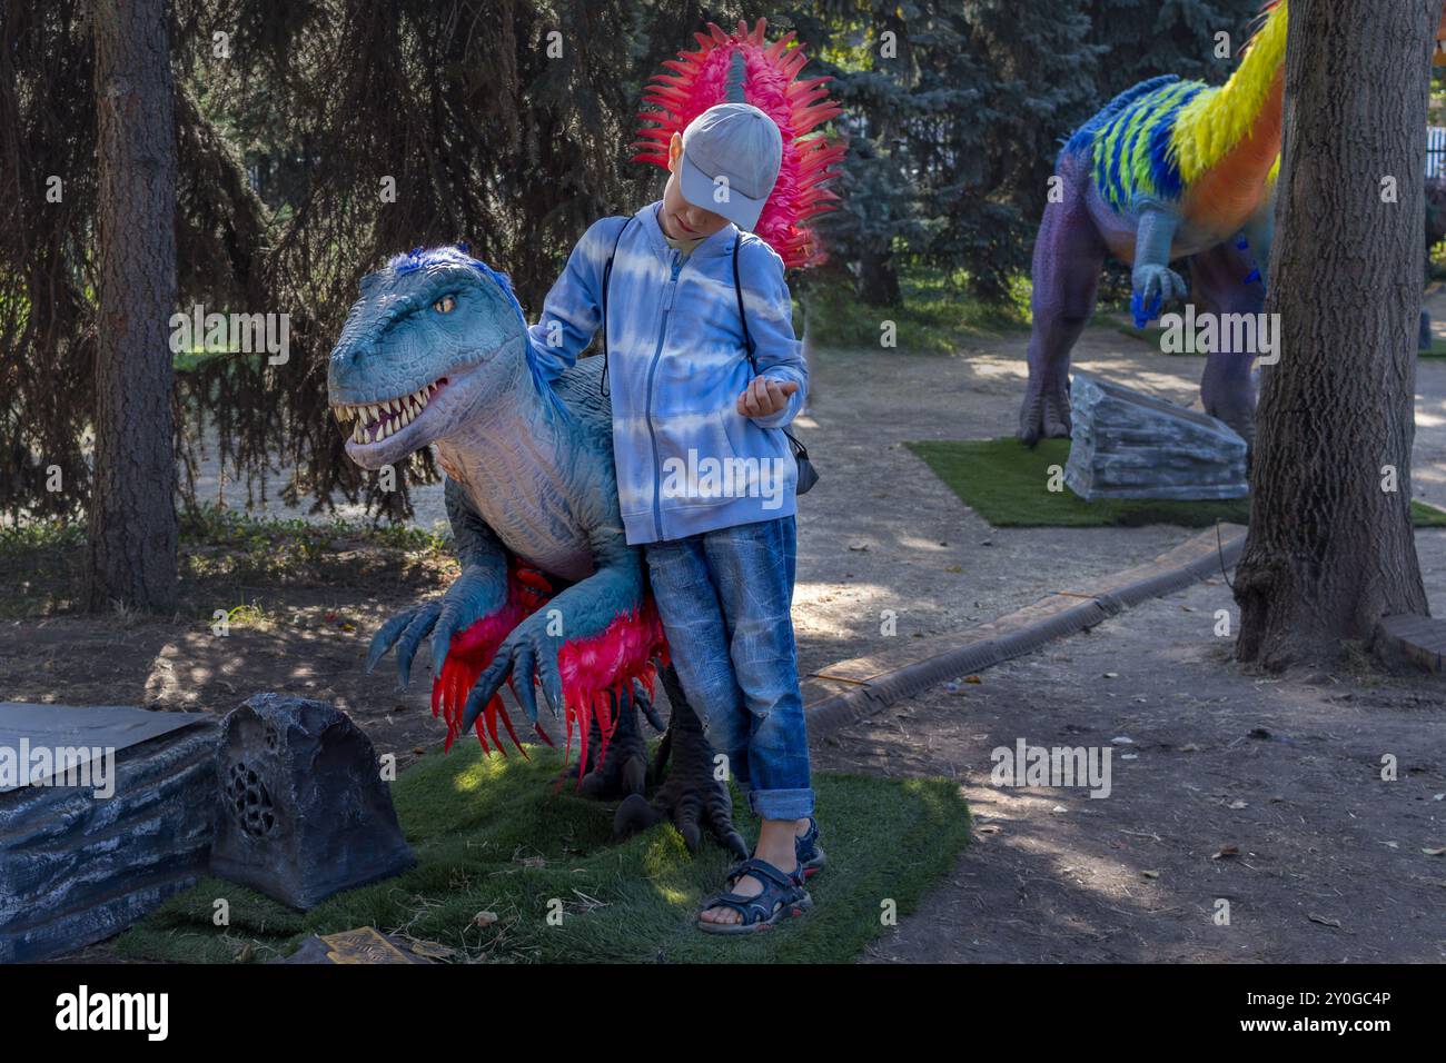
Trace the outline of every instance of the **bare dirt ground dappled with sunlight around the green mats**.
{"label": "bare dirt ground dappled with sunlight around the green mats", "polygon": [[[876,651],[885,609],[905,638],[962,631],[1087,589],[1190,534],[992,529],[902,447],[1009,434],[1025,341],[983,338],[950,357],[816,359],[803,432],[823,479],[800,513],[804,671]],[[1202,364],[1155,354],[1108,324],[1076,353],[1080,369],[1180,402],[1194,399]],[[1446,505],[1446,363],[1423,362],[1419,383],[1414,487]],[[440,516],[434,492],[418,502],[419,524]],[[1446,532],[1419,535],[1437,612],[1443,547]],[[364,677],[360,662],[383,619],[445,583],[434,568],[359,554],[343,579],[230,589],[217,607],[259,597],[266,619],[226,638],[189,619],[7,620],[0,696],[224,713],[252,693],[289,691],[337,703],[405,765],[435,755],[422,751],[441,735],[425,652],[406,693],[389,668]],[[956,874],[868,959],[1446,959],[1446,856],[1423,852],[1446,846],[1440,683],[1369,670],[1251,675],[1229,661],[1229,639],[1215,638],[1216,609],[1233,622],[1220,580],[818,745],[824,769],[957,778],[979,817]],[[991,751],[1019,738],[1111,748],[1111,797],[989,785]],[[1398,781],[1379,780],[1385,754]],[[1212,921],[1220,898],[1231,905],[1223,927]]]}

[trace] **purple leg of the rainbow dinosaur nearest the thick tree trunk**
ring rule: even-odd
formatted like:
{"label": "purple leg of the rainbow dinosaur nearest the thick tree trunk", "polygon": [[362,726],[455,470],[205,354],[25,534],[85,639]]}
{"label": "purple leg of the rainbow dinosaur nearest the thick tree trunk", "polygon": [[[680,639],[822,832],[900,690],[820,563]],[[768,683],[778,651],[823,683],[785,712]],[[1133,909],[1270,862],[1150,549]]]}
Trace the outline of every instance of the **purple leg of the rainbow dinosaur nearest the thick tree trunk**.
{"label": "purple leg of the rainbow dinosaur nearest the thick tree trunk", "polygon": [[[1257,336],[1255,323],[1265,307],[1265,285],[1255,272],[1255,260],[1249,249],[1239,247],[1236,240],[1228,240],[1190,259],[1190,292],[1196,305],[1196,317],[1203,312],[1216,315],[1218,343],[1206,356],[1205,373],[1200,377],[1200,402],[1205,412],[1218,417],[1246,444],[1255,440],[1255,382],[1251,364],[1258,350],[1249,337]],[[1233,315],[1251,315],[1252,323]]]}

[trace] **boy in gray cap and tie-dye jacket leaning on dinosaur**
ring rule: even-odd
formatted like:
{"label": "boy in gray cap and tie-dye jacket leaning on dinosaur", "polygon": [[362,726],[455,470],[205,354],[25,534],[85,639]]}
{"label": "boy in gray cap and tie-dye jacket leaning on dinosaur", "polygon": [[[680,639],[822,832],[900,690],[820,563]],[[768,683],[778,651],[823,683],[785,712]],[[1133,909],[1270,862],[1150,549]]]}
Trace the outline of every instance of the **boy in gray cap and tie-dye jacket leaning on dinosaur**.
{"label": "boy in gray cap and tie-dye jacket leaning on dinosaur", "polygon": [[753,859],[698,915],[713,933],[807,910],[804,869],[823,863],[790,615],[797,469],[781,431],[803,406],[808,370],[782,260],[749,231],[781,158],[778,126],[756,107],[700,114],[672,137],[662,200],[587,230],[529,337],[544,372],[560,375],[607,301],[628,542],[643,545],[684,691],[762,820]]}

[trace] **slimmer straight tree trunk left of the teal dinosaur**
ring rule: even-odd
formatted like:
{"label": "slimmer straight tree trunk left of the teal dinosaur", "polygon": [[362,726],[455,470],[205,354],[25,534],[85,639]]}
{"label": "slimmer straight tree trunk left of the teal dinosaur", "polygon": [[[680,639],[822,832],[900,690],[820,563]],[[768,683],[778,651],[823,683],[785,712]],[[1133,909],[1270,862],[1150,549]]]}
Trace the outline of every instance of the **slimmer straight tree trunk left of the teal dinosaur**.
{"label": "slimmer straight tree trunk left of the teal dinosaur", "polygon": [[94,0],[100,314],[85,597],[176,602],[176,145],[165,0]]}

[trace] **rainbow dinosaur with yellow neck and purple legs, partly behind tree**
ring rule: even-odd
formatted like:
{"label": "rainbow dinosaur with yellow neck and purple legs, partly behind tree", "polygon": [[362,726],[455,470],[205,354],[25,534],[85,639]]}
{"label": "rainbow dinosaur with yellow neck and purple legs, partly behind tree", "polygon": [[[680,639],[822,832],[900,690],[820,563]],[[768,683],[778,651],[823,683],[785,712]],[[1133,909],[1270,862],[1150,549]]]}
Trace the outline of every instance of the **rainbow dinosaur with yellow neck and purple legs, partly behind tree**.
{"label": "rainbow dinosaur with yellow neck and purple legs, partly behind tree", "polygon": [[[1272,0],[1235,75],[1220,87],[1154,78],[1112,100],[1060,153],[1034,247],[1030,385],[1021,441],[1070,434],[1070,350],[1095,311],[1105,256],[1134,265],[1142,327],[1186,295],[1170,263],[1186,259],[1199,311],[1257,314],[1280,163],[1287,4]],[[1223,331],[1223,330],[1222,330]],[[1207,414],[1254,440],[1255,351],[1207,356]]]}

